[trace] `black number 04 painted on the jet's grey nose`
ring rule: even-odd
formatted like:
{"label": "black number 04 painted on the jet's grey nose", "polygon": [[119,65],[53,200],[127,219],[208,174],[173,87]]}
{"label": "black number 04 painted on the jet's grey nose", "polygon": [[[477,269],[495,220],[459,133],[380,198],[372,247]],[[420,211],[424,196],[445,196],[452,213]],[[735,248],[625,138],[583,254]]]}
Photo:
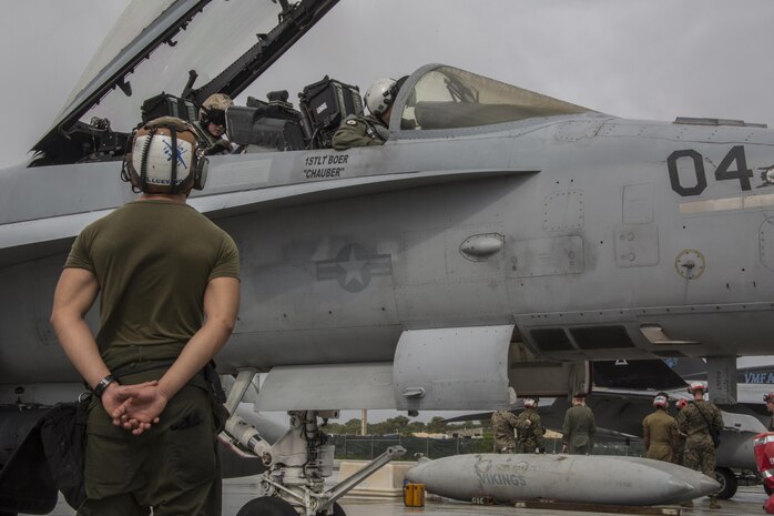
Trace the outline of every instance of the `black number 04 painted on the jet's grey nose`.
{"label": "black number 04 painted on the jet's grey nose", "polygon": [[[678,160],[689,158],[693,161],[693,171],[696,174],[696,183],[693,186],[684,186],[680,182],[678,174]],[[731,170],[731,165],[736,163],[736,168]],[[672,183],[672,190],[680,195],[688,198],[692,195],[701,195],[706,189],[706,172],[704,171],[703,156],[694,150],[674,151],[666,159],[669,166],[669,180]],[[740,182],[742,190],[751,190],[750,178],[753,176],[753,171],[747,168],[747,160],[744,155],[744,145],[735,145],[731,148],[729,153],[723,158],[721,164],[715,170],[715,180],[729,181],[736,180]]]}

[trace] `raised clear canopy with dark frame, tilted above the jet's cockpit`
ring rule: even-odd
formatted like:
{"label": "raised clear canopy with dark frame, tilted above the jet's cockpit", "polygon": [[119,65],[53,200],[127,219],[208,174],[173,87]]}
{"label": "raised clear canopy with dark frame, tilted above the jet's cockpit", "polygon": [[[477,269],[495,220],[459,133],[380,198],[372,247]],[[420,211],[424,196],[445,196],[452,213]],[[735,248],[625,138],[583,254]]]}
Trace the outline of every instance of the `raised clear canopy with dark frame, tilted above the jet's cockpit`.
{"label": "raised clear canopy with dark frame, tilted above the jet's cockpit", "polygon": [[236,97],[337,1],[134,0],[33,150],[65,162],[80,152],[79,121],[130,131],[142,102],[162,92],[195,104],[215,92]]}

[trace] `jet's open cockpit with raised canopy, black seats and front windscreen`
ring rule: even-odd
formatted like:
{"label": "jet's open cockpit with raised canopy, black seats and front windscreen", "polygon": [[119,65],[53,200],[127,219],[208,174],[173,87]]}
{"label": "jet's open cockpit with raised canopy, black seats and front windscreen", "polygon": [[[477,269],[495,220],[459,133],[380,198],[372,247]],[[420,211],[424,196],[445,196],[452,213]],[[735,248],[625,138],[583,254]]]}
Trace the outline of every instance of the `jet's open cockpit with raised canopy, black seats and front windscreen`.
{"label": "jet's open cockpit with raised canopy, black seats and front windscreen", "polygon": [[[154,9],[136,4],[134,16],[125,17],[132,26],[112,32],[115,41],[103,44],[35,144],[39,154],[32,165],[118,160],[140,122],[161,115],[193,121],[210,94],[236,99],[336,1],[165,0]],[[213,45],[224,30],[230,44]],[[326,149],[338,124],[364,109],[358,87],[328,77],[303,88],[297,107],[289,99],[281,90],[228,109],[228,138],[246,152]],[[429,64],[398,92],[389,140],[585,111],[454,67]]]}

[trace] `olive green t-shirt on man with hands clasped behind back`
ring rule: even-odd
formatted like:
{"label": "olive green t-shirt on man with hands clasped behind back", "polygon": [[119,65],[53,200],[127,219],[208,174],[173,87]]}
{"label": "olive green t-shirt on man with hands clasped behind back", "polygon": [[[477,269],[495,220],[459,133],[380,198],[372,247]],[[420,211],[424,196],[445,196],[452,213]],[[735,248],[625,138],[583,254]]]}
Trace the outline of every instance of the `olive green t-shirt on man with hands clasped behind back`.
{"label": "olive green t-shirt on man with hands clasped behind back", "polygon": [[89,224],[64,266],[96,276],[96,342],[115,368],[175,358],[202,326],[210,280],[240,277],[240,254],[225,231],[187,204],[135,201]]}

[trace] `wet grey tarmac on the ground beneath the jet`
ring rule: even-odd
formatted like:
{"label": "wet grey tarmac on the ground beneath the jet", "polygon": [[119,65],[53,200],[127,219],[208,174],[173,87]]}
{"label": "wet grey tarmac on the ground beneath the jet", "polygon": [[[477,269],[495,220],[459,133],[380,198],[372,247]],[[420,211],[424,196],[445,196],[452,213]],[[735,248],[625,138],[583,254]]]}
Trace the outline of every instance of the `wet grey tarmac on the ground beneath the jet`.
{"label": "wet grey tarmac on the ground beneath the jet", "polygon": [[[223,516],[235,516],[240,508],[255,497],[255,482],[252,477],[228,479],[224,482],[224,506]],[[481,516],[481,515],[519,515],[519,516],[609,516],[609,513],[584,512],[584,510],[557,510],[550,508],[526,509],[515,508],[507,505],[481,506],[472,505],[464,502],[450,500],[442,498],[441,500],[430,497],[425,507],[405,507],[403,498],[388,499],[365,499],[345,497],[342,502],[342,508],[347,516]],[[710,508],[709,498],[699,498],[694,500],[694,508],[682,509],[684,516],[746,516],[762,515],[763,503],[767,496],[762,486],[740,487],[736,495],[727,500],[721,500],[720,509]],[[679,506],[662,506],[679,508]],[[618,514],[640,514],[636,507],[631,513],[619,512]],[[51,513],[54,516],[72,516],[75,514],[64,502],[57,505],[57,508]]]}

